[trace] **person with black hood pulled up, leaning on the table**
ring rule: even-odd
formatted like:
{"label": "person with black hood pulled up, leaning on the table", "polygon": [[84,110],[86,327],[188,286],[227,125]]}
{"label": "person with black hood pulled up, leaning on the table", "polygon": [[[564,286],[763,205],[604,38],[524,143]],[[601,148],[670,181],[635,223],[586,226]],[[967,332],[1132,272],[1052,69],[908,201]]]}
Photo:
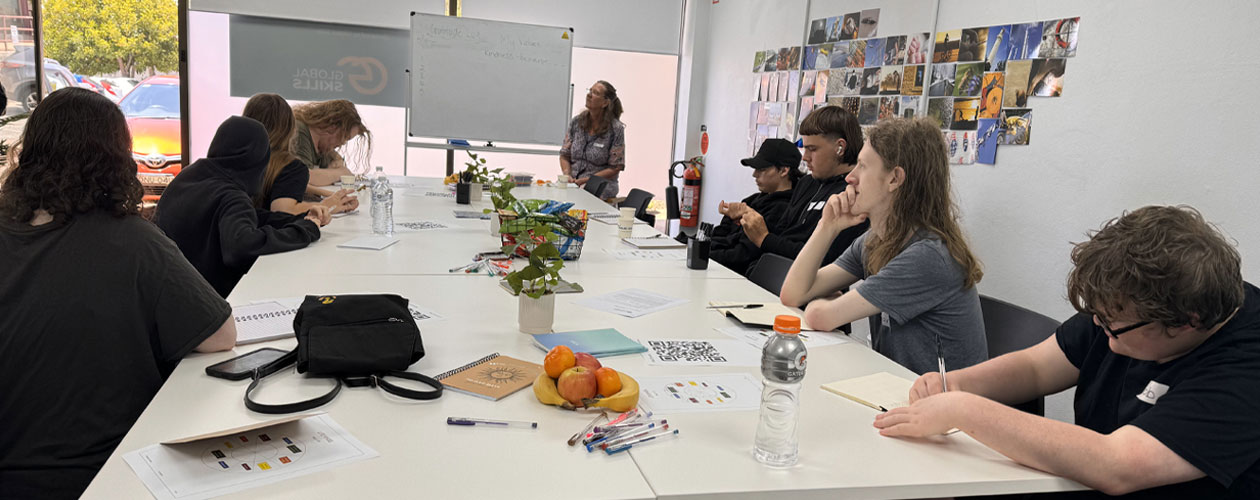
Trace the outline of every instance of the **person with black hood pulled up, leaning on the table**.
{"label": "person with black hood pulled up, leaning on the table", "polygon": [[270,156],[262,123],[233,116],[214,132],[207,157],[158,202],[154,223],[224,298],[258,256],[305,248],[330,220],[324,205],[299,215],[255,208]]}

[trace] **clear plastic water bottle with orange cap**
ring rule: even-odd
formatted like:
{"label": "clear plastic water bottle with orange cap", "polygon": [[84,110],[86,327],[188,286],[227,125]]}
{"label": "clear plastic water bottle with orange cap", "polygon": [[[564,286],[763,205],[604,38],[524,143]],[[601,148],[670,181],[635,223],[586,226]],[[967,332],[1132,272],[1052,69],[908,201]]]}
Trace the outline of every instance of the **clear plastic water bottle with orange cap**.
{"label": "clear plastic water bottle with orange cap", "polygon": [[761,349],[761,418],[752,455],[759,462],[786,467],[796,463],[796,417],[800,380],[805,378],[805,344],[800,317],[775,317],[775,335]]}

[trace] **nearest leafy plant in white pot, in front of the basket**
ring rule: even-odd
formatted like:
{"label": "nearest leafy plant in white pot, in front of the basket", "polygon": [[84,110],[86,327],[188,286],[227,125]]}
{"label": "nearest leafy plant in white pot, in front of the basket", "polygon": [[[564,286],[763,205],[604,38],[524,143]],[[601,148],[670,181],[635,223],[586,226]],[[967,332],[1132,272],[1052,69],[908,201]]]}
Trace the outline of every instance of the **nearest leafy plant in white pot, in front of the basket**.
{"label": "nearest leafy plant in white pot, in front of the basket", "polygon": [[519,246],[529,251],[524,267],[508,273],[508,286],[520,297],[517,322],[523,334],[548,334],[556,320],[556,288],[564,261],[553,244],[558,238],[546,224],[534,224],[513,234],[515,243],[503,247],[513,254]]}

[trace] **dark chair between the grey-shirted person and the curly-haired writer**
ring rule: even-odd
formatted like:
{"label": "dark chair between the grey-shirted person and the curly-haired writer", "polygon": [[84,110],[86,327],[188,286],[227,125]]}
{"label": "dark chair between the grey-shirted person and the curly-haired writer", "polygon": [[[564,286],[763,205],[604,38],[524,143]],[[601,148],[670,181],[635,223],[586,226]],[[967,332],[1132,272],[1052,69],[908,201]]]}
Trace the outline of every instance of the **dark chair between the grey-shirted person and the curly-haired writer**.
{"label": "dark chair between the grey-shirted person and the curly-haired writer", "polygon": [[[980,312],[984,315],[984,332],[988,336],[989,358],[1037,345],[1058,329],[1060,322],[985,295],[980,296]],[[1046,398],[1041,397],[1027,403],[1013,404],[1024,412],[1045,416]]]}

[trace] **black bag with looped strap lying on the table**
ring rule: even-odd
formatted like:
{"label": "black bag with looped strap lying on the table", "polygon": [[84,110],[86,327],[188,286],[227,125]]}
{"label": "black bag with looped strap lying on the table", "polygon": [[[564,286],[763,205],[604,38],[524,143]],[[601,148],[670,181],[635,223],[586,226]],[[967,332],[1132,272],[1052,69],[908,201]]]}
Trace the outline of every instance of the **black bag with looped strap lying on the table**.
{"label": "black bag with looped strap lying on the table", "polygon": [[[261,366],[244,393],[244,406],[258,413],[292,413],[331,402],[349,387],[379,387],[410,399],[437,399],[442,384],[430,377],[406,372],[425,356],[420,329],[407,309],[407,298],[397,295],[307,295],[294,317],[297,349]],[[262,404],[249,398],[262,380],[290,364],[297,373],[329,377],[336,387],[328,394],[297,403]],[[432,385],[433,390],[412,390],[383,379],[398,377]]]}

